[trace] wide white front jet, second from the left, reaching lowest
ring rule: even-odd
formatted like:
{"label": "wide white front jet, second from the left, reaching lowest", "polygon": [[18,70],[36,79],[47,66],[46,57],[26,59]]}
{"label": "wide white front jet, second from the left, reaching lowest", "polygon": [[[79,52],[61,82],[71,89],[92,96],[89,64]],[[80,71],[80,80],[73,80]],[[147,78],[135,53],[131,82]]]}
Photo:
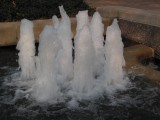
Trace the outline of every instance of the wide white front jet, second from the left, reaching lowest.
{"label": "wide white front jet, second from the left, reaching lowest", "polygon": [[36,61],[37,76],[33,96],[40,102],[57,101],[60,90],[57,85],[57,61],[59,44],[56,30],[52,26],[45,26],[40,34],[39,53]]}

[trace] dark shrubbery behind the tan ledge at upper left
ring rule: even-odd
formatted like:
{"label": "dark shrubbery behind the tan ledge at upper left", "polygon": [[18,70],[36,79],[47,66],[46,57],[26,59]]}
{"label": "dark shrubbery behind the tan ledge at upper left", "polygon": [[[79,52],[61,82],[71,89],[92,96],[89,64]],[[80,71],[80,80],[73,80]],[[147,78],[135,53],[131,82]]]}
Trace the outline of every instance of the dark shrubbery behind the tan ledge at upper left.
{"label": "dark shrubbery behind the tan ledge at upper left", "polygon": [[83,0],[0,0],[0,22],[60,16],[58,10],[60,5],[64,6],[69,16],[75,16],[79,10],[87,9],[89,15],[95,11]]}

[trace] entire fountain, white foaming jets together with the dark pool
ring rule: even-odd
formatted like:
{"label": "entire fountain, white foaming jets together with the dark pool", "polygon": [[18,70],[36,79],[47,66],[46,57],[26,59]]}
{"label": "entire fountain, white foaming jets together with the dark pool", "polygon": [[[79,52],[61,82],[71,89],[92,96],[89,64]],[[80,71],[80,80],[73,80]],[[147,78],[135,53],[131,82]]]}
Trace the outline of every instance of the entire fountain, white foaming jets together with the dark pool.
{"label": "entire fountain, white foaming jets together with the dark pool", "polygon": [[[20,24],[18,55],[15,46],[0,48],[5,58],[0,64],[0,119],[158,120],[159,85],[124,69],[129,58],[139,65],[147,47],[125,48],[124,60],[117,19],[104,40],[100,14],[89,19],[87,11],[80,11],[73,36],[70,18],[59,9],[61,19],[53,16],[40,34],[38,54],[33,23],[26,19]],[[139,53],[136,58],[133,48]]]}

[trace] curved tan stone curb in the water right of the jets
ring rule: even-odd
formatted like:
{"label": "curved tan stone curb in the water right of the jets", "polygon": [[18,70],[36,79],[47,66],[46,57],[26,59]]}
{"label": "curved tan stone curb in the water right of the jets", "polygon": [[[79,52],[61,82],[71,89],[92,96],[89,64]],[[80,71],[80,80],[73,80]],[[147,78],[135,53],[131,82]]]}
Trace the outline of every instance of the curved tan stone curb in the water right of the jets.
{"label": "curved tan stone curb in the water right of the jets", "polygon": [[124,57],[127,71],[135,74],[143,74],[144,77],[160,83],[160,71],[143,66],[140,63],[142,59],[153,57],[153,55],[153,49],[145,45],[135,45],[125,48]]}

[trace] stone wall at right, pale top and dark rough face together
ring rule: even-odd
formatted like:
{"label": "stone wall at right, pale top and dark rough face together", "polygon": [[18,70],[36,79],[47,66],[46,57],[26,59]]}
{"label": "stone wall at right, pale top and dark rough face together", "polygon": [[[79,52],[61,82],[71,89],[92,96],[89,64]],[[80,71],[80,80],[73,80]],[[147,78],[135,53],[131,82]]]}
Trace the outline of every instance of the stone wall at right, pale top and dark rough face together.
{"label": "stone wall at right, pale top and dark rough face together", "polygon": [[119,18],[122,36],[155,49],[160,59],[160,11],[124,6],[101,6],[97,11],[103,18]]}

